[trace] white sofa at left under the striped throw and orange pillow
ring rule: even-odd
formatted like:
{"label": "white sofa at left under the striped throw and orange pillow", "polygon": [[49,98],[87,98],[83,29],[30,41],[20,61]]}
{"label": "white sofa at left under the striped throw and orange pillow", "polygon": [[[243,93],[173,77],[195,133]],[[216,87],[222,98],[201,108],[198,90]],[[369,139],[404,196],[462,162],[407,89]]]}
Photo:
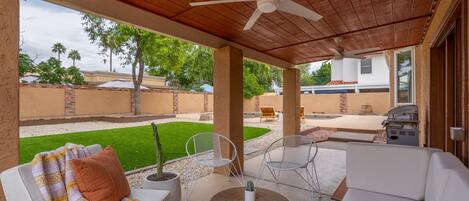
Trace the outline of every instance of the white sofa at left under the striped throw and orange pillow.
{"label": "white sofa at left under the striped throw and orange pillow", "polygon": [[[87,147],[95,155],[102,151],[101,145]],[[8,201],[44,201],[32,176],[31,164],[23,164],[1,173],[1,181]],[[138,201],[169,201],[169,191],[131,189],[131,199]]]}

